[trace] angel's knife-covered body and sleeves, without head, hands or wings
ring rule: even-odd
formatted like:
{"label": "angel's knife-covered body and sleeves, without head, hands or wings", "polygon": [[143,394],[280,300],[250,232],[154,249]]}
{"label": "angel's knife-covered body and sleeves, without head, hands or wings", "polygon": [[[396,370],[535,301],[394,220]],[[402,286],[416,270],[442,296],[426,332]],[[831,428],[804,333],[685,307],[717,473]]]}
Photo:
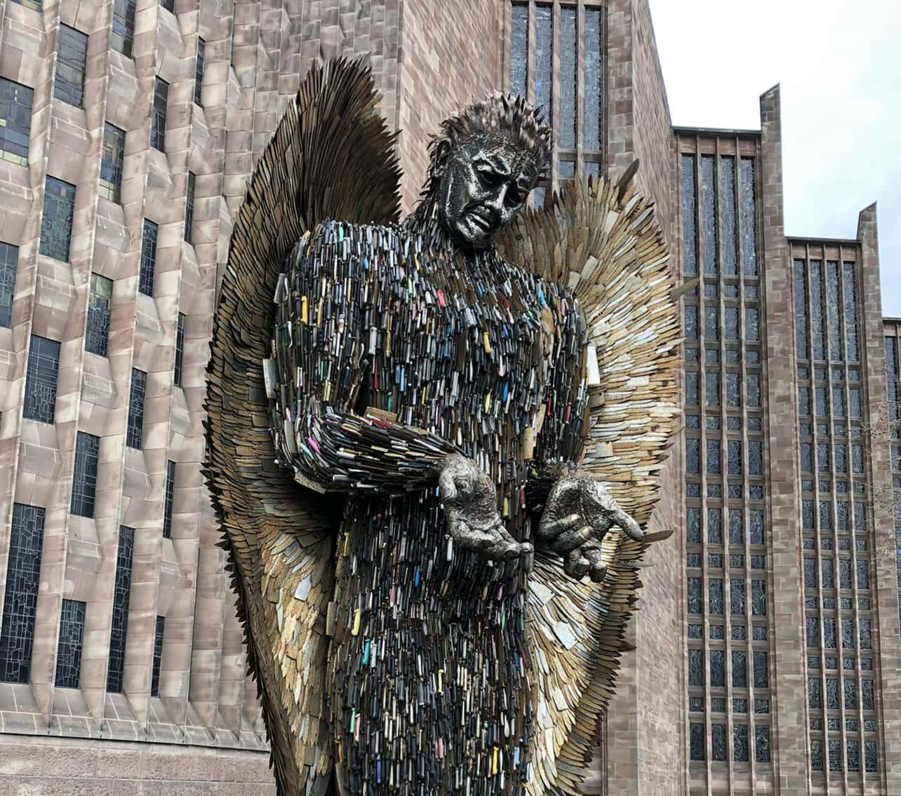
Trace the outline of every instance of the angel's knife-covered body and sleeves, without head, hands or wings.
{"label": "angel's knife-covered body and sleeves, without head, hands or wings", "polygon": [[587,431],[575,297],[494,249],[325,222],[277,300],[282,463],[347,493],[327,679],[340,790],[522,792],[537,704],[527,564],[454,547],[434,467],[474,459],[506,528],[534,541],[529,479],[578,461]]}

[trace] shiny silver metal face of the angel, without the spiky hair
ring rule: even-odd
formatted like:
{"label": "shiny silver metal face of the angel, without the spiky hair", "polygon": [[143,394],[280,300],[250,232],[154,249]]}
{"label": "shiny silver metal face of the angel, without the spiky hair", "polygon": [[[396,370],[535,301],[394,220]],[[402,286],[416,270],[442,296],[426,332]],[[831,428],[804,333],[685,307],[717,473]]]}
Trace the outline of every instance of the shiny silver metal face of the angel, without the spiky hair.
{"label": "shiny silver metal face of the angel, without the spiky hair", "polygon": [[465,249],[487,249],[538,182],[532,152],[503,136],[464,140],[437,173],[441,222]]}

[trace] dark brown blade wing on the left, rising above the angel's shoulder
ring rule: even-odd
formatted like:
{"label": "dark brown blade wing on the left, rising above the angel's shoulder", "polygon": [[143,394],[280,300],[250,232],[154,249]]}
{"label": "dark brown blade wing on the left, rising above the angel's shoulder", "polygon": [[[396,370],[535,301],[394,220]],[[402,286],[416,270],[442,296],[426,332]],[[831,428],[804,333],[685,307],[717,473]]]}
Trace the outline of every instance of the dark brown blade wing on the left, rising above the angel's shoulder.
{"label": "dark brown blade wing on the left, rising above the angel's shoulder", "polygon": [[[258,679],[279,794],[332,773],[323,692],[335,516],[275,464],[262,360],[282,261],[325,218],[396,222],[394,135],[369,67],[314,68],[259,159],[232,231],[207,368],[207,483]],[[320,496],[316,496],[317,498]]]}

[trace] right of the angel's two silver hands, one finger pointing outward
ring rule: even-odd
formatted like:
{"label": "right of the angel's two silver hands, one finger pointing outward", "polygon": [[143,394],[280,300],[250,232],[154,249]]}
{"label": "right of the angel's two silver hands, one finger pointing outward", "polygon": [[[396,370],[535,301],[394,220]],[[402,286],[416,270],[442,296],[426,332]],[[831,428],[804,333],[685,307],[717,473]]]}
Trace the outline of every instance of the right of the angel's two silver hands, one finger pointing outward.
{"label": "right of the angel's two silver hands, one finger pointing outward", "polygon": [[566,574],[574,578],[587,574],[600,583],[606,574],[601,542],[614,525],[633,539],[644,538],[639,524],[620,508],[604,484],[589,475],[565,475],[551,488],[538,538],[563,556]]}

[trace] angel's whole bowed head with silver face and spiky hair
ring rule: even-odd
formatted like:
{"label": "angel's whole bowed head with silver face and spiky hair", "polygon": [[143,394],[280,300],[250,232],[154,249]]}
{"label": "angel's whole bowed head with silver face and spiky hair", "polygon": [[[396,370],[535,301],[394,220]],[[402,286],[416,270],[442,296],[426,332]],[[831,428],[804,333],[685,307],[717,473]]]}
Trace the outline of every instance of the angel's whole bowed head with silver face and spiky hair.
{"label": "angel's whole bowed head with silver face and spiky hair", "polygon": [[523,208],[551,157],[551,128],[523,97],[494,94],[441,123],[423,198],[465,249],[486,249]]}

